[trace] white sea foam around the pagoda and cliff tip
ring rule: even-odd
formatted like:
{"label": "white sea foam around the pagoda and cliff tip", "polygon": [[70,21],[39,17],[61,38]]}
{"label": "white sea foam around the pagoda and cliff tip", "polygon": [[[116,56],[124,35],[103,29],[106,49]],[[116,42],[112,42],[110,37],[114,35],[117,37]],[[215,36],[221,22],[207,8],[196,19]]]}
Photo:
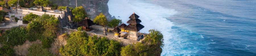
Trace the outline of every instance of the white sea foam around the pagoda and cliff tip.
{"label": "white sea foam around the pagoda and cliff tip", "polygon": [[129,16],[133,12],[139,15],[139,19],[142,21],[141,24],[145,26],[140,32],[148,33],[149,29],[161,31],[164,35],[165,44],[161,55],[191,55],[191,53],[197,52],[197,50],[182,49],[186,47],[185,45],[193,43],[186,42],[187,39],[180,38],[179,34],[172,31],[171,27],[174,24],[166,19],[166,17],[176,14],[177,11],[146,3],[142,0],[110,0],[108,6],[109,13],[112,16],[120,16],[117,18],[121,19],[124,23],[129,20]]}

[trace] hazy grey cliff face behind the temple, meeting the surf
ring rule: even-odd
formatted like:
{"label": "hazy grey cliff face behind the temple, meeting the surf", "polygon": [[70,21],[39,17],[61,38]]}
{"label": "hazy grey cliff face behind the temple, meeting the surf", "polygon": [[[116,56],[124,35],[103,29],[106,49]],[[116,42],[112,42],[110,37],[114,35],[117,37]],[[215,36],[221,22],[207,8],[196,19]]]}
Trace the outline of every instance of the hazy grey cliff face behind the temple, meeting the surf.
{"label": "hazy grey cliff face behind the temple, meeting the surf", "polygon": [[[113,18],[108,12],[108,1],[109,0],[77,0],[77,5],[83,6],[92,19],[100,13],[103,13],[108,20],[111,20]],[[57,0],[54,1],[54,3],[57,3],[59,6],[70,6],[74,8],[75,5],[69,4],[76,4],[76,0]]]}

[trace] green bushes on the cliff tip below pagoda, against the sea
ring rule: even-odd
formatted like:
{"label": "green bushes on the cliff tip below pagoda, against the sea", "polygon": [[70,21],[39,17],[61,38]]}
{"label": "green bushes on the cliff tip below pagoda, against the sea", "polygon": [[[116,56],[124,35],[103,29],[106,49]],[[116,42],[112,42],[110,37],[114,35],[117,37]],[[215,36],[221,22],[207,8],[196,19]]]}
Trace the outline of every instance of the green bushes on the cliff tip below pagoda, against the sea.
{"label": "green bushes on the cliff tip below pagoda, against the sea", "polygon": [[122,47],[121,56],[160,56],[164,46],[163,34],[157,30],[149,30],[142,43]]}

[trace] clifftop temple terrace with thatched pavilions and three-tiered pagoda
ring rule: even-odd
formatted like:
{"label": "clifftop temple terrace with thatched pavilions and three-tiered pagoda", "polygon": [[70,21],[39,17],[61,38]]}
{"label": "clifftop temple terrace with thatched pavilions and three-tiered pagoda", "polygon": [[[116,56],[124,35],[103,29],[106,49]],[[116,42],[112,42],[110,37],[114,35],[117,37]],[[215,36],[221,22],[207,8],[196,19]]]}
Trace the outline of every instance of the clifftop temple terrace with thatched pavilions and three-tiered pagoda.
{"label": "clifftop temple terrace with thatched pavilions and three-tiered pagoda", "polygon": [[140,32],[140,30],[143,29],[144,26],[140,24],[141,20],[138,18],[139,16],[133,13],[129,17],[130,20],[126,22],[128,25],[123,23],[120,26],[116,26],[115,28],[95,25],[92,20],[85,18],[77,24],[77,27],[82,27],[82,31],[87,31],[95,34],[140,41],[144,38],[146,34]]}

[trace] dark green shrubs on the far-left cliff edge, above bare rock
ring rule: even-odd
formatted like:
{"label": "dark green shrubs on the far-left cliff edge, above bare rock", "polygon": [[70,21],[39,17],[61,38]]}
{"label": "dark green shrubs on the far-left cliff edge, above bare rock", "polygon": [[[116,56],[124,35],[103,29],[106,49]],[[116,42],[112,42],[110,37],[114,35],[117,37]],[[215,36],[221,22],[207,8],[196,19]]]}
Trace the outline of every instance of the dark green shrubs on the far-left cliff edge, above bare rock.
{"label": "dark green shrubs on the far-left cliff edge, above bare rock", "polygon": [[0,38],[1,43],[5,45],[22,45],[26,41],[27,31],[25,28],[15,27],[11,30],[5,31],[3,36]]}

